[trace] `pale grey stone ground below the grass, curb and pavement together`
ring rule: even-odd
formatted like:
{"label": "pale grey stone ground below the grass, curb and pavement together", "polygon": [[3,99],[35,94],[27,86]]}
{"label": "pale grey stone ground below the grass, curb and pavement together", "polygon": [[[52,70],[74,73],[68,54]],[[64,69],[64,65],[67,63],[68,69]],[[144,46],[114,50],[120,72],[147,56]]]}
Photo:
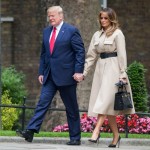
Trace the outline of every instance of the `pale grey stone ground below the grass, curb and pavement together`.
{"label": "pale grey stone ground below the grass, curb and pavement together", "polygon": [[[20,137],[0,137],[0,150],[110,150],[108,148],[111,138],[101,138],[99,145],[88,142],[82,138],[80,146],[68,146],[67,138],[41,138],[35,137],[32,143]],[[111,148],[113,150],[114,148]],[[122,138],[120,150],[150,150],[149,139]]]}

